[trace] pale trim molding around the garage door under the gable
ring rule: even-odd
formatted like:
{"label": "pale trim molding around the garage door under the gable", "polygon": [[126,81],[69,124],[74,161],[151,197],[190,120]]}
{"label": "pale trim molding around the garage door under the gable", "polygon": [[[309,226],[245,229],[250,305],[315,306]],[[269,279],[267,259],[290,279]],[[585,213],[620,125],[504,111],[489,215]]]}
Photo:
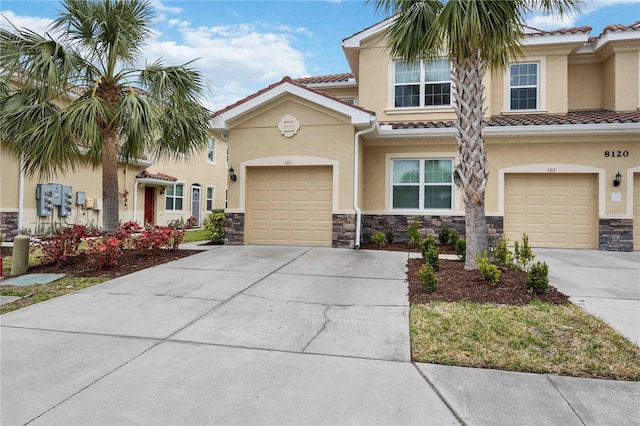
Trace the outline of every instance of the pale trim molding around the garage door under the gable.
{"label": "pale trim molding around the garage door under the gable", "polygon": [[[240,175],[238,180],[240,183],[240,199],[238,200],[238,208],[233,209],[234,212],[244,213],[246,206],[246,190],[247,190],[247,167],[299,167],[299,166],[331,166],[332,167],[332,184],[333,193],[331,194],[331,208],[333,212],[338,211],[338,200],[340,191],[340,163],[337,160],[323,157],[311,157],[306,155],[279,155],[275,157],[262,157],[253,160],[247,160],[240,163]],[[230,211],[231,209],[228,209]]]}

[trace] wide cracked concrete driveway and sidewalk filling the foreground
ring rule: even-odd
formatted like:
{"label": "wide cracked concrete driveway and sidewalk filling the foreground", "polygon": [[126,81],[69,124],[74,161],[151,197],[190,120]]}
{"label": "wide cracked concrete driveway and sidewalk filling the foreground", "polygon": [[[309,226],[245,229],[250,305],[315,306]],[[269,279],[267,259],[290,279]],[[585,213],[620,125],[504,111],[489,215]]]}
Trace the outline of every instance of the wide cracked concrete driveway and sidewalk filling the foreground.
{"label": "wide cracked concrete driveway and sidewalk filling the foreground", "polygon": [[640,383],[411,363],[406,258],[223,246],[5,314],[1,423],[638,422]]}

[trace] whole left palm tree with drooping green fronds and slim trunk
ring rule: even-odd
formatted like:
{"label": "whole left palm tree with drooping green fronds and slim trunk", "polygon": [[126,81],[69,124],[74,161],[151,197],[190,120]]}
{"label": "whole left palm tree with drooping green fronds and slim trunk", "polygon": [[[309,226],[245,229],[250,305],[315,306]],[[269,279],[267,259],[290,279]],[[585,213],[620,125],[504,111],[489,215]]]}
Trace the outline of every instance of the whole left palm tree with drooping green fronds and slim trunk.
{"label": "whole left palm tree with drooping green fronds and slim trunk", "polygon": [[[190,66],[134,68],[151,35],[148,0],[65,0],[60,41],[0,29],[0,136],[27,176],[102,168],[104,228],[118,228],[118,161],[204,147],[204,81]],[[73,96],[70,91],[79,91]],[[62,107],[61,100],[70,102]],[[64,102],[64,101],[63,101]]]}

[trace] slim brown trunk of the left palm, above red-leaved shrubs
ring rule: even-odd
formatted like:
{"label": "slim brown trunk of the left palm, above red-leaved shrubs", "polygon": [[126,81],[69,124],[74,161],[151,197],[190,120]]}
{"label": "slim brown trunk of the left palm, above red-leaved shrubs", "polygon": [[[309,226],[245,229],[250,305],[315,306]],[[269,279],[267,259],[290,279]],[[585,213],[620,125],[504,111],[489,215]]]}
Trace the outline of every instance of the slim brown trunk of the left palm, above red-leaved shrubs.
{"label": "slim brown trunk of the left palm, above red-leaved shrubs", "polygon": [[118,191],[117,155],[116,132],[113,129],[108,129],[104,133],[102,148],[103,227],[108,233],[117,232],[119,226],[120,194]]}

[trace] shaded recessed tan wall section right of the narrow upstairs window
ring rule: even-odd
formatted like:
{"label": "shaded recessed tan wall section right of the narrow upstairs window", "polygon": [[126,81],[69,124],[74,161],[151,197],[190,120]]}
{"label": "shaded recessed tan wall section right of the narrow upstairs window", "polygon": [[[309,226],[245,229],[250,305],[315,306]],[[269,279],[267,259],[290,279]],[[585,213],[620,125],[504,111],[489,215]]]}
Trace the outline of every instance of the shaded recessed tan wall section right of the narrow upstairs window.
{"label": "shaded recessed tan wall section right of the narrow upstairs window", "polygon": [[602,102],[602,65],[569,65],[569,109],[596,109]]}

